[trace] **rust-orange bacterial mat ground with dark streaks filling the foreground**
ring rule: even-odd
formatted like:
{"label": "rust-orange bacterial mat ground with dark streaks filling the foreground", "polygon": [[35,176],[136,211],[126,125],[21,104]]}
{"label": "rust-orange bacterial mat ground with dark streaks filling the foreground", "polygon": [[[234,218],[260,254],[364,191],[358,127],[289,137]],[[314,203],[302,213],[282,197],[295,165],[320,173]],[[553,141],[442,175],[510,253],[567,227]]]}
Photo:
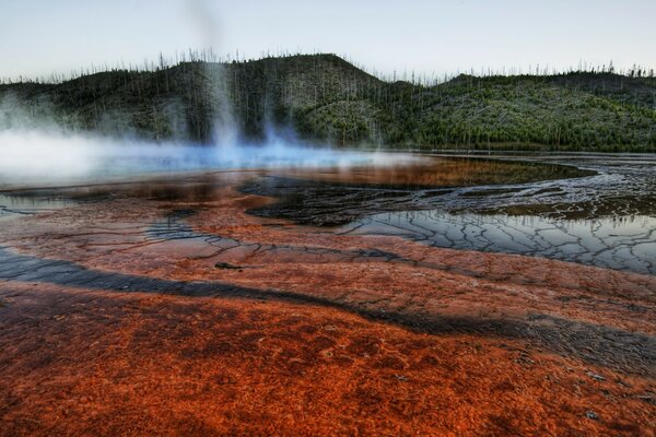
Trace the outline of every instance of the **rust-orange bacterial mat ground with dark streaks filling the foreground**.
{"label": "rust-orange bacterial mat ground with dark streaks filling the foreground", "polygon": [[243,177],[2,222],[1,436],[655,435],[656,277],[262,220]]}

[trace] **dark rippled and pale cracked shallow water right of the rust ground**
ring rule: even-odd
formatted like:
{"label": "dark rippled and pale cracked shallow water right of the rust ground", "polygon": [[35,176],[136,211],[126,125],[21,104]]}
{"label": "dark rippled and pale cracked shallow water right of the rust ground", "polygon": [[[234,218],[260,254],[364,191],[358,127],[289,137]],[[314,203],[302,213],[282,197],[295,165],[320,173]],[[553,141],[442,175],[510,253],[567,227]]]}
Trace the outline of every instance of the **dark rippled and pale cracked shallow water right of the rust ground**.
{"label": "dark rippled and pale cracked shallow water right of the rust ground", "polygon": [[[518,157],[504,156],[515,161]],[[518,253],[656,274],[656,157],[547,155],[583,177],[425,188],[270,179],[280,196],[254,211],[341,234],[394,235],[435,247]],[[261,184],[261,182],[260,182]],[[277,194],[278,193],[278,194]]]}

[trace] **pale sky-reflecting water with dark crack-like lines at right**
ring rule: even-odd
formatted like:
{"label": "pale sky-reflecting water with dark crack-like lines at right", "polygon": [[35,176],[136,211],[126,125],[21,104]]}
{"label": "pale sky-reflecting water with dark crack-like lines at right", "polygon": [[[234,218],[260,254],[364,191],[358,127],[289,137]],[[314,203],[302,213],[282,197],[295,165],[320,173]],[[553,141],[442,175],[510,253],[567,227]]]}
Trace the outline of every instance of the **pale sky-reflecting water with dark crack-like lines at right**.
{"label": "pale sky-reflecting water with dark crack-like lines at right", "polygon": [[405,211],[375,214],[340,232],[403,236],[435,247],[519,253],[656,274],[656,218],[646,215],[574,221]]}

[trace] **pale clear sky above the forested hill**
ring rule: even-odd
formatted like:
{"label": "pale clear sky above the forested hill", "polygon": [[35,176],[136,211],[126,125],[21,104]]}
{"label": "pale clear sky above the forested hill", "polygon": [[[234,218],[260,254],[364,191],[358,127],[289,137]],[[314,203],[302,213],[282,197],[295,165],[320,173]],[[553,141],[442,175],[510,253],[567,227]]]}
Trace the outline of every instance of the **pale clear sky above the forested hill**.
{"label": "pale clear sky above the forested hill", "polygon": [[188,48],[345,55],[384,75],[656,68],[656,0],[0,0],[0,78]]}

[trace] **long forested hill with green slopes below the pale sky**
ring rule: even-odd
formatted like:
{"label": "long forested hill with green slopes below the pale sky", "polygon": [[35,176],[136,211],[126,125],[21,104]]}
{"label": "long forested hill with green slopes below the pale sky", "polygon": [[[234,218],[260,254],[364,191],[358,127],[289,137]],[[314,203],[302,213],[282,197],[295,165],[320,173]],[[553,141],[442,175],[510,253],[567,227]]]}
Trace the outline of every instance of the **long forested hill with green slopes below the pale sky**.
{"label": "long forested hill with green slopes below the pale sky", "polygon": [[612,73],[385,82],[333,55],[108,71],[0,85],[0,129],[209,142],[233,126],[336,144],[413,149],[656,150],[656,79]]}

